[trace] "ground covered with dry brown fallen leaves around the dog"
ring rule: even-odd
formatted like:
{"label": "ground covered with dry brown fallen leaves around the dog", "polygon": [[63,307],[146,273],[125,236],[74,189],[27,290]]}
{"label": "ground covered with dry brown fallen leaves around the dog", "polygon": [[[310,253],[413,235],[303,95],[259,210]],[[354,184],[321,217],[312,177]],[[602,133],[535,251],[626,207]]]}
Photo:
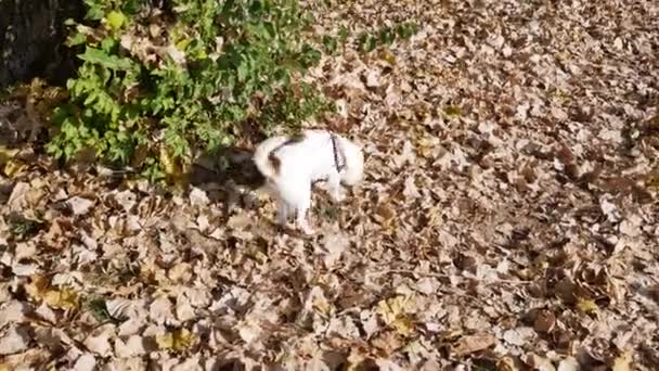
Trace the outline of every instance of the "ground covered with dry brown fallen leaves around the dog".
{"label": "ground covered with dry brown fallen leaves around the dog", "polygon": [[0,370],[656,370],[659,3],[310,7],[419,25],[315,71],[367,172],[321,235],[233,180],[3,153]]}

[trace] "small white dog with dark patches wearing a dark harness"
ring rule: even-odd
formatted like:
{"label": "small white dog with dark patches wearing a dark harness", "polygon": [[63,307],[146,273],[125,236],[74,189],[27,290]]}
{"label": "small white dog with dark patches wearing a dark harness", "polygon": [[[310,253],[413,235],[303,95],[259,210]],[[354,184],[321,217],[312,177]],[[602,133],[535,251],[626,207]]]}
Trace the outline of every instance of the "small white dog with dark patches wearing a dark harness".
{"label": "small white dog with dark patches wearing a dark harness", "polygon": [[339,202],[345,197],[340,186],[354,186],[364,174],[361,148],[324,130],[306,130],[300,138],[267,139],[257,146],[254,162],[277,201],[280,223],[285,226],[295,213],[296,223],[306,234],[313,233],[307,221],[312,183],[326,180],[330,194]]}

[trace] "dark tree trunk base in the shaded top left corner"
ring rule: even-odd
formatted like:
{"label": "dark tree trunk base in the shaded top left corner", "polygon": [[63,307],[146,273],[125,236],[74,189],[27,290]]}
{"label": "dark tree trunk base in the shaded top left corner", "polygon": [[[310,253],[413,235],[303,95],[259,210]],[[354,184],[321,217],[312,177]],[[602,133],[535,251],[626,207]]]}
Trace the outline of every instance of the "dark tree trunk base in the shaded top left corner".
{"label": "dark tree trunk base in the shaded top left corner", "polygon": [[64,84],[75,71],[64,21],[82,12],[80,0],[0,0],[0,88],[33,77]]}

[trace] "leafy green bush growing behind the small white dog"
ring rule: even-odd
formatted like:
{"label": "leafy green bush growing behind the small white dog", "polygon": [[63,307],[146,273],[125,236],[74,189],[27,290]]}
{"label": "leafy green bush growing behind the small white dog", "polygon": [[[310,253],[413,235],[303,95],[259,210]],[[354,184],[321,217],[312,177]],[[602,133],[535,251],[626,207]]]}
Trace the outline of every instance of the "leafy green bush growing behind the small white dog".
{"label": "leafy green bush growing behind the small white dog", "polygon": [[328,107],[301,81],[320,60],[297,0],[85,0],[68,22],[82,61],[48,151],[131,165],[150,179],[245,127],[269,133]]}

